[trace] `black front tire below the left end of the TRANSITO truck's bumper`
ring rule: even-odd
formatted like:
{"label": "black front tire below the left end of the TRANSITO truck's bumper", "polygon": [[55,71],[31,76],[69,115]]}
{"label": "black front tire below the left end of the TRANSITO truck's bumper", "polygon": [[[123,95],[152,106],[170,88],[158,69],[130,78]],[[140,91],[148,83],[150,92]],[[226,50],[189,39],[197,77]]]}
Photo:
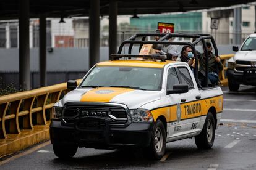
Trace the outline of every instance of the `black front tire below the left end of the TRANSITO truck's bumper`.
{"label": "black front tire below the left end of the TRANSITO truck's bumper", "polygon": [[77,148],[76,145],[53,144],[53,152],[59,158],[72,158]]}

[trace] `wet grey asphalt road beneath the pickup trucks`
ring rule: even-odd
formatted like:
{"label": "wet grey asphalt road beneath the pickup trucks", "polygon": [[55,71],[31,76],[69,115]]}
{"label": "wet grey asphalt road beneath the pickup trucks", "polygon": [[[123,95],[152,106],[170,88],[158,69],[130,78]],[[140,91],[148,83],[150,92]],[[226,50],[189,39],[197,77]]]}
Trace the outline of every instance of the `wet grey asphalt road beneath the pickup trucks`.
{"label": "wet grey asphalt road beneath the pickup trucks", "polygon": [[256,87],[242,86],[236,93],[223,87],[223,94],[223,126],[210,150],[198,150],[193,138],[167,144],[161,161],[149,161],[139,151],[91,148],[60,160],[49,144],[0,162],[0,169],[256,169]]}

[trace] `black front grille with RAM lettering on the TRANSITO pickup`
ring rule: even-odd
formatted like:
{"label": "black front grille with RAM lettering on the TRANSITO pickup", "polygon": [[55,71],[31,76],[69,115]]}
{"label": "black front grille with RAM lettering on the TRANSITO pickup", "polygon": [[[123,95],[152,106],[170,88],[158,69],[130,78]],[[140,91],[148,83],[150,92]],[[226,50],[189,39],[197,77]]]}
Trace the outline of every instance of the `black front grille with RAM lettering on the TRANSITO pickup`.
{"label": "black front grille with RAM lettering on the TRANSITO pickup", "polygon": [[76,118],[83,117],[101,117],[111,118],[111,124],[125,124],[127,122],[126,109],[116,105],[85,105],[85,104],[67,104],[63,119],[67,123],[74,123]]}

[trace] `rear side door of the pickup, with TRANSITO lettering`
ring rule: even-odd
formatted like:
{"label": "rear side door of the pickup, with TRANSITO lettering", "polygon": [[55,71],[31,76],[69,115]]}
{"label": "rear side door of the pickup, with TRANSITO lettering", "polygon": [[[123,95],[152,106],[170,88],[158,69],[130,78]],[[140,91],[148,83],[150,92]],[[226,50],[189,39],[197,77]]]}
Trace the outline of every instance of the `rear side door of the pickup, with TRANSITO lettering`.
{"label": "rear side door of the pickup, with TRANSITO lettering", "polygon": [[197,88],[194,75],[190,68],[179,66],[176,68],[176,71],[179,76],[179,82],[188,84],[189,86],[189,92],[180,94],[181,132],[182,134],[194,134],[198,131],[200,117],[202,115],[200,91]]}

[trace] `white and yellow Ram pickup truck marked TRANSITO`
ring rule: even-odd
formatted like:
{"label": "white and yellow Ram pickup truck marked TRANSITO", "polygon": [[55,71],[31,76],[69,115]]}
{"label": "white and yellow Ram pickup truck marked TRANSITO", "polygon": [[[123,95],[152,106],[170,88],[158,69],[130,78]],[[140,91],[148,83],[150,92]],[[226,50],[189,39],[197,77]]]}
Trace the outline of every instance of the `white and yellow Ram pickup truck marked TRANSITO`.
{"label": "white and yellow Ram pickup truck marked TRANSITO", "polygon": [[78,147],[140,147],[161,159],[166,142],[191,137],[198,148],[213,146],[220,86],[198,87],[185,62],[121,57],[97,63],[78,86],[68,81],[74,90],[54,105],[50,125],[56,156],[72,157]]}

